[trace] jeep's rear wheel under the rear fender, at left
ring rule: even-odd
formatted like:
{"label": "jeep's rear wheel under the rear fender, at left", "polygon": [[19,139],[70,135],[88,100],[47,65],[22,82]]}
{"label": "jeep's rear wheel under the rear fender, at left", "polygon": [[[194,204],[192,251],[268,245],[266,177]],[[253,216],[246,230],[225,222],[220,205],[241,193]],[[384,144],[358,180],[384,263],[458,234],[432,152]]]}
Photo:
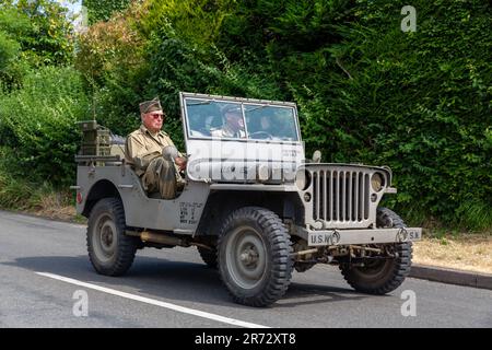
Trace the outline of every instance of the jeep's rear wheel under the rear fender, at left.
{"label": "jeep's rear wheel under the rear fender, at left", "polygon": [[106,276],[121,276],[133,262],[137,237],[125,234],[125,210],[118,198],[101,199],[87,222],[87,252],[94,269]]}

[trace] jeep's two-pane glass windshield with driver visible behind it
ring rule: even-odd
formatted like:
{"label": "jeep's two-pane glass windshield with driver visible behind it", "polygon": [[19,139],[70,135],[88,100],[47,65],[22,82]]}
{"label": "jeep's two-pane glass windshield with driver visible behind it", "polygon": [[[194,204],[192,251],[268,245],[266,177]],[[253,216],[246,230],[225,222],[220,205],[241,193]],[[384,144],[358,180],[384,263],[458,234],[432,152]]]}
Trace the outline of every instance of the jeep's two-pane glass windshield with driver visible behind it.
{"label": "jeep's two-pane glass windshield with driver visible behind it", "polygon": [[295,106],[218,98],[184,98],[191,139],[300,140]]}

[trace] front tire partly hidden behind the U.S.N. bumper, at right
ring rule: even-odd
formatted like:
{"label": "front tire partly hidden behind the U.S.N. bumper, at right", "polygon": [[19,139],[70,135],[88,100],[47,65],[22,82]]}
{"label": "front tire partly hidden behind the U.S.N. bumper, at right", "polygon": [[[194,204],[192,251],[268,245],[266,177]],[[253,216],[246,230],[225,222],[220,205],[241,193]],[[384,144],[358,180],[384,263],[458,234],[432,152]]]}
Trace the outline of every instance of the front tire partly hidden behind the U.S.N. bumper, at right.
{"label": "front tire partly hidden behind the U.S.N. bumper, at right", "polygon": [[[406,228],[403,220],[387,208],[378,208],[378,228]],[[412,265],[412,243],[396,243],[391,247],[393,259],[370,261],[364,267],[341,264],[340,270],[347,282],[356,291],[383,295],[396,290],[410,273]]]}

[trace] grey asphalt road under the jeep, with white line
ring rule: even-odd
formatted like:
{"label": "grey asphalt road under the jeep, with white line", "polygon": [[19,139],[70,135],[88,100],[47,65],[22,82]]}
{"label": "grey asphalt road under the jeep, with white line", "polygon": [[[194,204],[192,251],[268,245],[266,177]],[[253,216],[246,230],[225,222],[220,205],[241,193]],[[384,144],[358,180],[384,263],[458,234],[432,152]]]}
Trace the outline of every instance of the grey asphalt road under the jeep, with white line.
{"label": "grey asphalt road under the jeep, with white line", "polygon": [[[407,290],[415,316],[401,313]],[[89,262],[83,225],[4,211],[0,296],[0,327],[492,327],[490,290],[409,278],[372,296],[329,266],[294,272],[271,307],[237,305],[195,248],[139,250],[125,277],[104,277]]]}

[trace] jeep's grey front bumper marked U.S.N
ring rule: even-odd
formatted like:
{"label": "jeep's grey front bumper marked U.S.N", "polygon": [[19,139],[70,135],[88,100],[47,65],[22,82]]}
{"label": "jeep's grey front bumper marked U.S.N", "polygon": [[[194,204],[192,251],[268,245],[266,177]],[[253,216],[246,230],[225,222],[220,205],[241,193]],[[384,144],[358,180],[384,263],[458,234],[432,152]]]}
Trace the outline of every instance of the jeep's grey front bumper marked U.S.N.
{"label": "jeep's grey front bumper marked U.S.N", "polygon": [[402,243],[422,240],[421,228],[365,230],[303,230],[308,246]]}

